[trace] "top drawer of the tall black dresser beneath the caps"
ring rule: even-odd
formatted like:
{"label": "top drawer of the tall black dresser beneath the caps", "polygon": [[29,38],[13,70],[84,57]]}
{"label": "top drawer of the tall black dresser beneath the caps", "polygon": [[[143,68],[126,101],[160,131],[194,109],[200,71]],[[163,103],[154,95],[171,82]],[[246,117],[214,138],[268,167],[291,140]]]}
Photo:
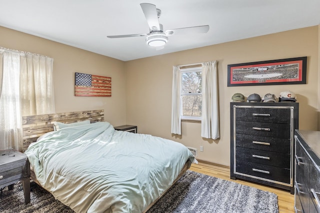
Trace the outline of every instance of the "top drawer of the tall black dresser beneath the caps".
{"label": "top drawer of the tall black dresser beneath the caps", "polygon": [[290,109],[236,108],[235,120],[289,124]]}

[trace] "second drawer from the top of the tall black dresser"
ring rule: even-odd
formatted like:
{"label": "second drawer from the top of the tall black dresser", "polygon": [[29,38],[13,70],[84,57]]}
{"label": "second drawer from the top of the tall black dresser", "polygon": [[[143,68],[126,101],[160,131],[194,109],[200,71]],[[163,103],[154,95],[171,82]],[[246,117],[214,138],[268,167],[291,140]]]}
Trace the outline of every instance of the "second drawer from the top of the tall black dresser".
{"label": "second drawer from the top of the tall black dresser", "polygon": [[289,139],[291,137],[290,124],[252,121],[236,121],[235,133],[241,135],[255,135],[286,139]]}

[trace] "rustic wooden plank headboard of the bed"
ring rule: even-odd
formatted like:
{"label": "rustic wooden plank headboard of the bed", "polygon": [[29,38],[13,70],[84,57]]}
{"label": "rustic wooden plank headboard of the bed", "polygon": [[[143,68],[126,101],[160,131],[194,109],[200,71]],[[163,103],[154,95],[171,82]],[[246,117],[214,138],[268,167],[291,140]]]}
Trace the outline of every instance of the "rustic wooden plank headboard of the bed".
{"label": "rustic wooden plank headboard of the bed", "polygon": [[90,120],[91,123],[104,121],[104,110],[53,113],[22,116],[22,152],[44,133],[53,131],[51,122],[74,123]]}

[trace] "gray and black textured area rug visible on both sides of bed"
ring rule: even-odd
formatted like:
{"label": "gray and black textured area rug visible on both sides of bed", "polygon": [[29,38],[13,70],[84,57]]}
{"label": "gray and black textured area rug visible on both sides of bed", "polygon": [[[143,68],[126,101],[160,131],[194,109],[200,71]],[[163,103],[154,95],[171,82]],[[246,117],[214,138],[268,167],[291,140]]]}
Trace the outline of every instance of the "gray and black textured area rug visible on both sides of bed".
{"label": "gray and black textured area rug visible on both sides of bed", "polygon": [[[31,202],[23,190],[3,189],[1,213],[73,213],[31,182]],[[278,213],[277,196],[252,187],[187,171],[147,213]]]}

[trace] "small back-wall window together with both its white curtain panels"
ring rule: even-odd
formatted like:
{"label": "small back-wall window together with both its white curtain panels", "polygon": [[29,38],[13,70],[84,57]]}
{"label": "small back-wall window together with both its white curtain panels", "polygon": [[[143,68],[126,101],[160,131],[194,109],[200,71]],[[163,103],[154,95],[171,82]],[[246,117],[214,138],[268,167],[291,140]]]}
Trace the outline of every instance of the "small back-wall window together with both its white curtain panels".
{"label": "small back-wall window together with both its white curtain panels", "polygon": [[201,123],[202,138],[220,137],[216,63],[172,67],[172,134],[182,135],[181,120],[193,120]]}

